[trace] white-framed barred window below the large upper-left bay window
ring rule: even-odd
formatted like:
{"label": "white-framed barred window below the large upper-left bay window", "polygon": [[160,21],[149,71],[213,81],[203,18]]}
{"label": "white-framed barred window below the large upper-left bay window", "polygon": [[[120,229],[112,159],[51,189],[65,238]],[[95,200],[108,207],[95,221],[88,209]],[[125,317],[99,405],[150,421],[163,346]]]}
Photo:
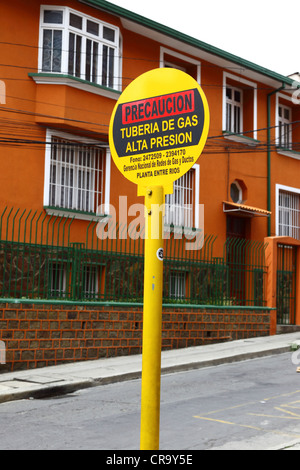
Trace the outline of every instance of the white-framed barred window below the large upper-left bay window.
{"label": "white-framed barred window below the large upper-left bay window", "polygon": [[48,136],[45,206],[96,213],[104,204],[105,149]]}

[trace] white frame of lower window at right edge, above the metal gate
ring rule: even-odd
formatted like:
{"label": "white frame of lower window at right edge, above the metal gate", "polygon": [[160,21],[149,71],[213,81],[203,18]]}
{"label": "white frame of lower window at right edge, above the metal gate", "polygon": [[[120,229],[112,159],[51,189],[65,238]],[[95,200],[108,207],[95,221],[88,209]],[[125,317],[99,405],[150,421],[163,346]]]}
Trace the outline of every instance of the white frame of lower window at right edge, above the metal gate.
{"label": "white frame of lower window at right edge, above the metal gate", "polygon": [[[298,199],[297,204],[299,203],[299,209],[296,207],[286,208],[286,216],[288,216],[289,224],[280,223],[280,193],[285,192],[289,193],[291,198],[295,196],[294,202],[292,200],[292,206],[295,205],[296,200]],[[300,188],[293,188],[290,186],[285,186],[281,184],[276,184],[276,235],[277,236],[286,236],[292,237],[296,240],[300,240]],[[282,216],[281,216],[282,219]],[[286,227],[286,230],[283,230],[281,227]],[[287,232],[287,233],[282,233]],[[298,232],[298,233],[297,233]],[[296,236],[295,236],[296,235]]]}

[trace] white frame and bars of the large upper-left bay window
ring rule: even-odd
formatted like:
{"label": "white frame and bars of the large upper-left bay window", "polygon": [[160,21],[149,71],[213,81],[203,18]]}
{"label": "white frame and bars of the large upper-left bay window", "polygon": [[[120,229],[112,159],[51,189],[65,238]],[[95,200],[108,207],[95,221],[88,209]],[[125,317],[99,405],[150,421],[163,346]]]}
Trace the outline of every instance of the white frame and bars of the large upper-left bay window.
{"label": "white frame and bars of the large upper-left bay window", "polygon": [[[44,23],[44,11],[45,10],[54,10],[54,11],[62,11],[63,12],[63,23],[62,24],[54,24],[54,23]],[[74,14],[80,16],[83,20],[83,28],[82,30],[77,29],[69,24],[70,14]],[[97,23],[99,26],[99,36],[93,35],[87,31],[87,22],[91,21],[93,23]],[[113,30],[115,33],[115,40],[114,42],[109,41],[103,37],[103,28],[109,28]],[[44,30],[56,30],[62,32],[62,51],[61,51],[61,70],[60,71],[44,71],[43,70],[43,45],[44,45]],[[80,55],[80,75],[75,76],[75,74],[69,74],[69,37],[70,33],[77,34],[80,36],[82,40],[82,49]],[[94,43],[99,44],[99,49],[101,51],[98,52],[98,71],[97,71],[97,81],[94,82],[93,80],[86,80],[86,57],[87,57],[87,41],[93,41]],[[98,18],[91,17],[84,13],[81,13],[77,10],[73,10],[72,8],[68,7],[61,7],[56,5],[41,5],[40,9],[40,32],[39,32],[39,60],[38,60],[38,73],[39,74],[47,74],[47,75],[63,75],[67,77],[73,77],[73,79],[80,79],[84,82],[90,83],[91,85],[98,85],[103,88],[112,89],[114,91],[121,91],[122,90],[122,83],[121,83],[121,44],[122,38],[120,35],[120,30],[117,26],[112,24],[103,22]],[[110,49],[114,50],[114,70],[113,70],[113,83],[112,84],[102,84],[102,57],[103,47],[109,47]],[[110,86],[111,85],[111,86]]]}

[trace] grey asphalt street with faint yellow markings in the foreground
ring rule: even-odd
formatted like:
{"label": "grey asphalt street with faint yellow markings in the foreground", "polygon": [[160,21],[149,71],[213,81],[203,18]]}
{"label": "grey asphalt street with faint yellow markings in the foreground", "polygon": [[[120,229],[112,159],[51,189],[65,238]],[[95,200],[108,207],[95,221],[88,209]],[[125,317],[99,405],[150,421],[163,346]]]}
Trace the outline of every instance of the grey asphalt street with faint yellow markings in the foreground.
{"label": "grey asphalt street with faint yellow markings in the foreground", "polygon": [[[162,376],[160,450],[300,442],[292,354]],[[138,450],[140,380],[0,404],[0,450]]]}

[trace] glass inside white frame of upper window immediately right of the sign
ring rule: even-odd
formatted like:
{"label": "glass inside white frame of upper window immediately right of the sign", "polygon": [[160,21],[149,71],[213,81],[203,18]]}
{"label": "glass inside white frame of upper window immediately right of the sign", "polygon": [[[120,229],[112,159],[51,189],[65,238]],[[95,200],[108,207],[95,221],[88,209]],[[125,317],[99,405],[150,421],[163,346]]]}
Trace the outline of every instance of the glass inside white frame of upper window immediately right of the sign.
{"label": "glass inside white frame of upper window immediately right of the sign", "polygon": [[226,131],[243,132],[243,91],[233,86],[226,87]]}

